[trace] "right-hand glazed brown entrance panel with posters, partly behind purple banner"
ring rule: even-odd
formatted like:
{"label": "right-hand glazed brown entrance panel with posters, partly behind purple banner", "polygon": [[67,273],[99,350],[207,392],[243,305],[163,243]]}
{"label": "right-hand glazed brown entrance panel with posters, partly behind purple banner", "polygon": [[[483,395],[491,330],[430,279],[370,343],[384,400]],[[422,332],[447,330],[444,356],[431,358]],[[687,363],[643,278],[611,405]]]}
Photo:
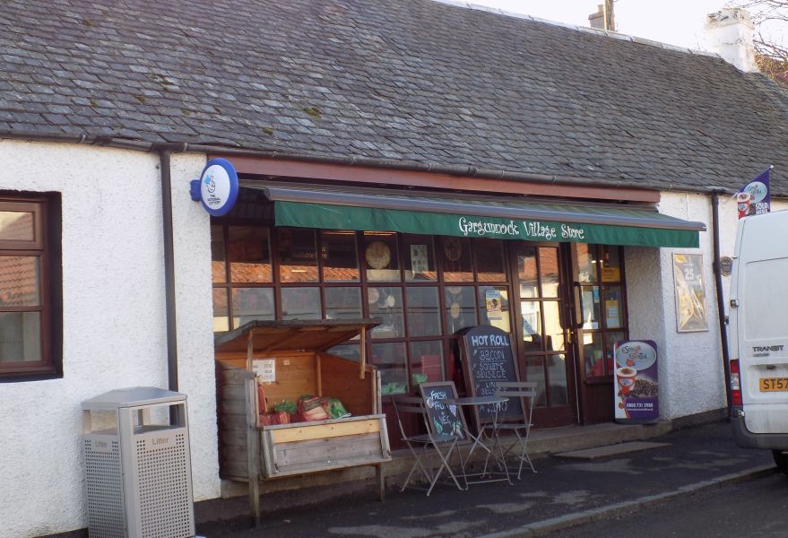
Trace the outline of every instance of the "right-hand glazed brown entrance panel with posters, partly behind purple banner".
{"label": "right-hand glazed brown entrance panel with posters, partly behind purple banner", "polygon": [[566,244],[572,278],[570,325],[580,421],[613,420],[613,352],[628,336],[623,248]]}

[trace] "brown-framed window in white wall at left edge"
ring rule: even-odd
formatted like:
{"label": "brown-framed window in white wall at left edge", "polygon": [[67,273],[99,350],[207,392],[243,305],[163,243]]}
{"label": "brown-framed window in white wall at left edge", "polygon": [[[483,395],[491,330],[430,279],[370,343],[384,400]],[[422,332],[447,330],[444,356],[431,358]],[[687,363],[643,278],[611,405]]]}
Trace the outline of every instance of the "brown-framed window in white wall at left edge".
{"label": "brown-framed window in white wall at left edge", "polygon": [[59,202],[0,200],[0,379],[59,376]]}

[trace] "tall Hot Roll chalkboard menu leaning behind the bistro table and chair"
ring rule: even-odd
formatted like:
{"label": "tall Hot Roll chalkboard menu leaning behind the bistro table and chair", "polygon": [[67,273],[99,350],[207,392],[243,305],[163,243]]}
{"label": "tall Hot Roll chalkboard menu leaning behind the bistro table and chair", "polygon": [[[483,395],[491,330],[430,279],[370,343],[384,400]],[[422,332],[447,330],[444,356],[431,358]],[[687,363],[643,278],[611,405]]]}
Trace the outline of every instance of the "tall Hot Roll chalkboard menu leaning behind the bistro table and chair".
{"label": "tall Hot Roll chalkboard menu leaning behind the bistro table and chair", "polygon": [[[459,334],[465,384],[471,395],[492,396],[498,381],[519,381],[509,334],[490,325],[468,327]],[[520,398],[510,398],[499,405],[498,421],[523,420]],[[496,404],[474,406],[473,411],[479,427],[492,421]]]}

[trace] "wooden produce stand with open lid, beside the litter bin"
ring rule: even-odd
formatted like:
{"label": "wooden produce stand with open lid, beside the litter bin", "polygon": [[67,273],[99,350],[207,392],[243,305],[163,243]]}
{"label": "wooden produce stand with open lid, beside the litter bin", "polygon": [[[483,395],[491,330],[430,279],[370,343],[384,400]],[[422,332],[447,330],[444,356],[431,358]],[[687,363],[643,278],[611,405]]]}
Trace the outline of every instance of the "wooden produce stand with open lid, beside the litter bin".
{"label": "wooden produce stand with open lid, beside the litter bin", "polygon": [[[366,363],[364,340],[377,319],[255,320],[214,339],[219,387],[220,475],[249,483],[249,509],[260,522],[260,481],[358,465],[376,467],[383,500],[381,465],[391,460],[380,401],[380,374]],[[360,335],[359,362],[326,350]],[[269,408],[302,395],[338,398],[350,417],[258,425],[258,381]]]}

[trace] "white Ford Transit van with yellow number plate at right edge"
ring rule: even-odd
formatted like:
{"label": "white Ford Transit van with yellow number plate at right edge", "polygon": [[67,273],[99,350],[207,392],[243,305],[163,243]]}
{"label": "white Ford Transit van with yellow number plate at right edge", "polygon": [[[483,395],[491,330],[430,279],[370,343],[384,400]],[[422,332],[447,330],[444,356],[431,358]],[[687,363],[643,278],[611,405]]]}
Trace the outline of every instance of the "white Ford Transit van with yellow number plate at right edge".
{"label": "white Ford Transit van with yellow number plate at right edge", "polygon": [[734,437],[740,447],[772,450],[788,473],[788,211],[740,220],[733,256]]}

